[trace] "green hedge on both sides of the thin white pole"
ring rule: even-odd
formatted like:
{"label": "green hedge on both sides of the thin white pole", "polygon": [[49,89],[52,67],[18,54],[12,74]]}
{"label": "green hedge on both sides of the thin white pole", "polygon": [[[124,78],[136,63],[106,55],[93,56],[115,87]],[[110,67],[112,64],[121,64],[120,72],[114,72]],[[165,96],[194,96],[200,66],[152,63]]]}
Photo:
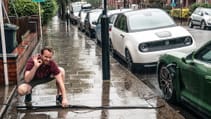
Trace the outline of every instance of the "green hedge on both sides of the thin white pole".
{"label": "green hedge on both sides of the thin white pole", "polygon": [[[48,24],[51,18],[56,15],[57,10],[56,0],[41,2],[42,24]],[[11,0],[9,2],[9,15],[16,16],[16,13],[18,17],[38,15],[38,3],[32,2],[32,0]]]}

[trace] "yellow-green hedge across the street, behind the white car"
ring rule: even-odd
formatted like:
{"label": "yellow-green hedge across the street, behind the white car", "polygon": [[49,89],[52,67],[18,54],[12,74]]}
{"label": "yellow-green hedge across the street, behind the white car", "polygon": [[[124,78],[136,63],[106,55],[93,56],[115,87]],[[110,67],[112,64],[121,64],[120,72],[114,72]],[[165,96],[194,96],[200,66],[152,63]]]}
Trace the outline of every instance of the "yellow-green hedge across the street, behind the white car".
{"label": "yellow-green hedge across the street, behind the white car", "polygon": [[[181,12],[182,10],[182,12]],[[182,14],[182,15],[181,15]],[[170,15],[174,18],[183,18],[183,19],[187,19],[189,17],[189,9],[188,8],[176,8],[176,9],[172,9],[170,11]]]}

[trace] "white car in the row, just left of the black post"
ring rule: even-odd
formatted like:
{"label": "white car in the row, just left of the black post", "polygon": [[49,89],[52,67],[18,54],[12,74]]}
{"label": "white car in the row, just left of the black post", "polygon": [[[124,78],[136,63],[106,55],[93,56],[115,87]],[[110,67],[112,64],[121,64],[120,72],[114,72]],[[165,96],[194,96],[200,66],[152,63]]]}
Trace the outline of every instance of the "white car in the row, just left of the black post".
{"label": "white car in the row, just left of the black post", "polygon": [[97,21],[97,18],[99,15],[102,13],[102,9],[93,9],[87,12],[85,21],[84,21],[84,28],[85,28],[85,33],[87,36],[90,38],[95,37],[95,27],[96,25],[93,24],[94,22]]}

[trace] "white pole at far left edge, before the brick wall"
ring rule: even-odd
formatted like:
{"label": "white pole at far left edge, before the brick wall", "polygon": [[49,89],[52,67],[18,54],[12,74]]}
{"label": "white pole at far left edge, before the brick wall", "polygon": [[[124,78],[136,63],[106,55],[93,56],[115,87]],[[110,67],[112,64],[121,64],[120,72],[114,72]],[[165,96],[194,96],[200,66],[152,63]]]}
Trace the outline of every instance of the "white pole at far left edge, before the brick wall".
{"label": "white pole at far left edge, before the brick wall", "polygon": [[8,83],[8,69],[7,69],[7,53],[5,46],[5,34],[4,34],[4,22],[3,22],[3,14],[2,14],[2,0],[0,0],[0,26],[1,26],[1,45],[2,45],[2,53],[3,53],[3,65],[4,65],[4,80],[5,85]]}

